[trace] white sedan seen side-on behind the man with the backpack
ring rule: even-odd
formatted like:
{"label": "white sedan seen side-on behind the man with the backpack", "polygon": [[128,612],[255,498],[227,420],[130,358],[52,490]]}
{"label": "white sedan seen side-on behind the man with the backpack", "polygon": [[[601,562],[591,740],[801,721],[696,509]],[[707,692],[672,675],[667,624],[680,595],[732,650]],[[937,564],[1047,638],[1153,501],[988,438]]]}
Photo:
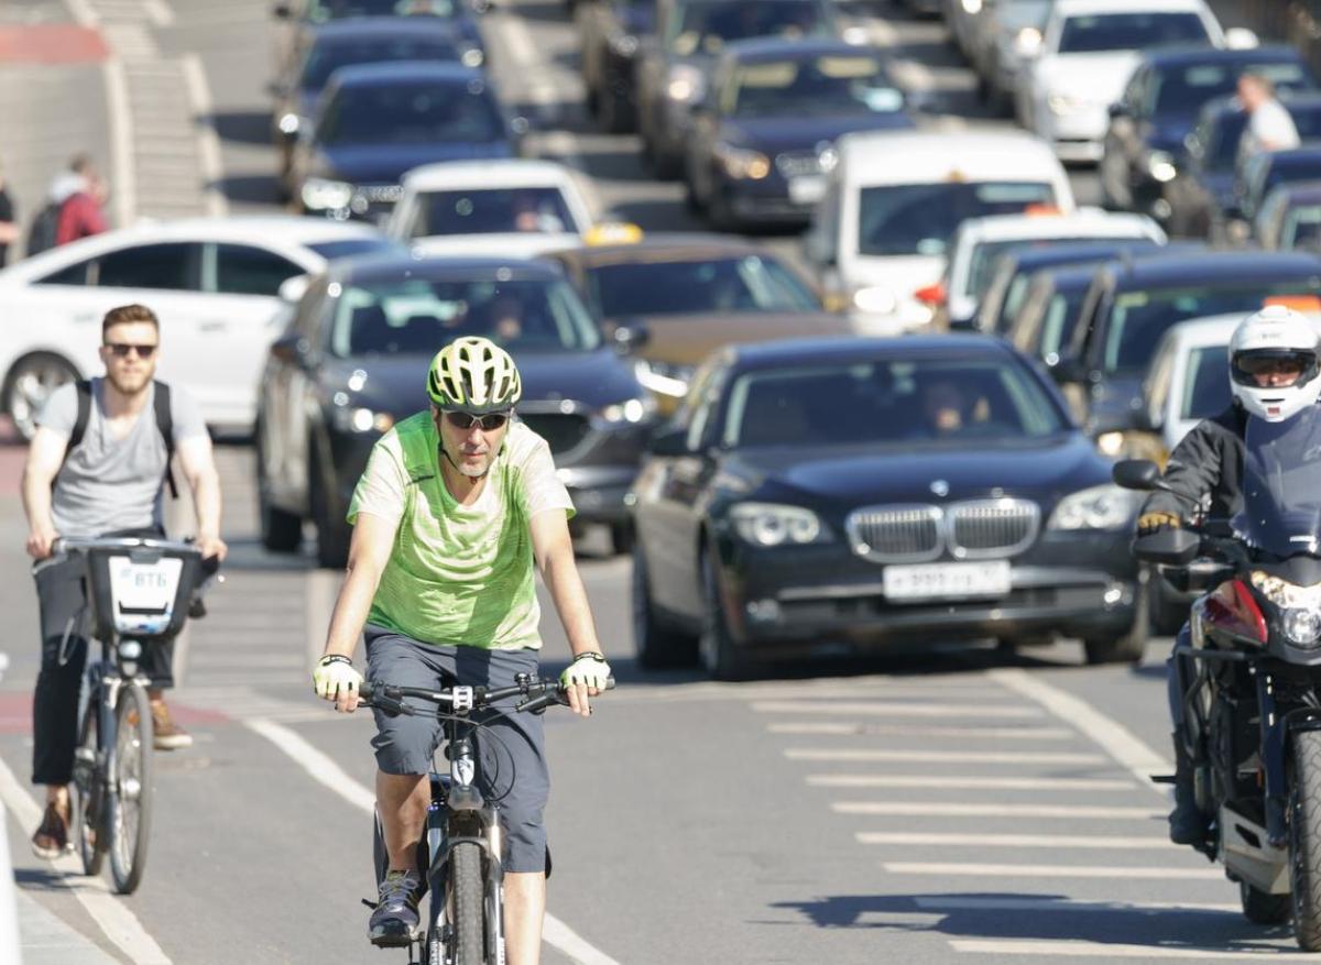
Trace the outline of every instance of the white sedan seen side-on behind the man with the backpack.
{"label": "white sedan seen side-on behind the man with the backpack", "polygon": [[0,411],[30,438],[57,385],[102,372],[100,321],[141,302],[161,321],[159,378],[209,425],[247,432],[287,279],[395,248],[376,228],[293,215],[189,218],[107,231],[0,271]]}

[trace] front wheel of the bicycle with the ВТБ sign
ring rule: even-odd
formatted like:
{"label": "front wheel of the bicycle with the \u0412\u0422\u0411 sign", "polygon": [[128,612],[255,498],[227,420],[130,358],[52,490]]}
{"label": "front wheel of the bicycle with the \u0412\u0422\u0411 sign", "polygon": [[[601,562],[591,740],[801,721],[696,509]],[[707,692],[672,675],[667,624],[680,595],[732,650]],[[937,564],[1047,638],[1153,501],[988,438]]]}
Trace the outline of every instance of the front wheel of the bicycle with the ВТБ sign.
{"label": "front wheel of the bicycle with the \u0412\u0422\u0411 sign", "polygon": [[152,829],[152,709],[141,684],[127,684],[115,706],[118,723],[114,772],[106,779],[110,825],[110,874],[115,891],[131,895],[147,867]]}

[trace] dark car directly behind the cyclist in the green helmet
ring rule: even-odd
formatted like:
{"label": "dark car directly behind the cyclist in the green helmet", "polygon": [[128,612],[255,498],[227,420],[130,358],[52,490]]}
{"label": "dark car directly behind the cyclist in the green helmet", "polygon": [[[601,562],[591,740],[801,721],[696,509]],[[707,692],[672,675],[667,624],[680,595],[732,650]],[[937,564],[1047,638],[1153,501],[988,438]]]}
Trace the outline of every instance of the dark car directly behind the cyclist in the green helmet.
{"label": "dark car directly behind the cyclist in the green helmet", "polygon": [[547,264],[495,259],[345,259],[316,279],[272,345],[258,399],[262,541],[341,566],[345,511],[367,455],[428,405],[427,366],[462,335],[502,345],[523,379],[515,415],[551,446],[576,521],[630,537],[625,496],[654,403],[573,286]]}

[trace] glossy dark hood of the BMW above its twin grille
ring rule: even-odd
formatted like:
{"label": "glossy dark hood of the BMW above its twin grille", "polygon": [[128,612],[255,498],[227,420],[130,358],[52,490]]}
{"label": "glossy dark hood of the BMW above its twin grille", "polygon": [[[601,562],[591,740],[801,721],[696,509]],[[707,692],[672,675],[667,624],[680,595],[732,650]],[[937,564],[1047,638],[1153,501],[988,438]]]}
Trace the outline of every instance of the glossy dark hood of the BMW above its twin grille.
{"label": "glossy dark hood of the BMW above its twin grille", "polygon": [[[749,498],[824,503],[840,514],[873,503],[952,502],[999,492],[1030,495],[1049,507],[1110,479],[1108,461],[1077,432],[951,446],[749,449],[731,457],[727,469],[754,487]],[[933,488],[947,492],[935,496]]]}

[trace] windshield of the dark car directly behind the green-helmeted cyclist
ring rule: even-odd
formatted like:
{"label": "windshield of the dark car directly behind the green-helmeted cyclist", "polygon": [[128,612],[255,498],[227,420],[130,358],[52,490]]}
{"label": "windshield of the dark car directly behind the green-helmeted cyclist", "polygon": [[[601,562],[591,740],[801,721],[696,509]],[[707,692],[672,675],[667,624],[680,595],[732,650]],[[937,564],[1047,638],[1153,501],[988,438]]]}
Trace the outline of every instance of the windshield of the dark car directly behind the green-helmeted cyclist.
{"label": "windshield of the dark car directly behind the green-helmeted cyclist", "polygon": [[427,281],[351,285],[336,305],[330,354],[432,355],[478,335],[510,351],[590,351],[601,333],[561,280]]}

